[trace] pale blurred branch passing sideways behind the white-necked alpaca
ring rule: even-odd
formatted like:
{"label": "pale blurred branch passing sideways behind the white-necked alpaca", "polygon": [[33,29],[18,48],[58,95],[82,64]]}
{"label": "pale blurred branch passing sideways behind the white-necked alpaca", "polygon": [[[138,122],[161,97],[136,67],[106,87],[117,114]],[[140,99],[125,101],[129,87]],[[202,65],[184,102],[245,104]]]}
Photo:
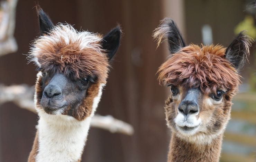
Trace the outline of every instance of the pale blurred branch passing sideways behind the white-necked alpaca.
{"label": "pale blurred branch passing sideways behind the white-necked alpaca", "polygon": [[[13,102],[20,108],[36,113],[34,108],[34,86],[23,85],[0,85],[0,104],[4,102]],[[101,116],[96,114],[91,121],[91,126],[101,128],[112,133],[122,133],[132,135],[134,130],[128,123],[113,118],[110,115]]]}

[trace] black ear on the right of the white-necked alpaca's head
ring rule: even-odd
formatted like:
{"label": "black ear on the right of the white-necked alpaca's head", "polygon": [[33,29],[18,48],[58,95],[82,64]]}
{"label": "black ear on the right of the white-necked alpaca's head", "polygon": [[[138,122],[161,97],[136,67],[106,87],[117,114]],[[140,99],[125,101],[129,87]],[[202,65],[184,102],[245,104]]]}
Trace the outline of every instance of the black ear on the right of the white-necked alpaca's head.
{"label": "black ear on the right of the white-necked alpaca's head", "polygon": [[111,60],[120,44],[121,38],[121,27],[118,25],[114,29],[112,29],[106,36],[102,39],[102,49],[107,51],[108,59]]}

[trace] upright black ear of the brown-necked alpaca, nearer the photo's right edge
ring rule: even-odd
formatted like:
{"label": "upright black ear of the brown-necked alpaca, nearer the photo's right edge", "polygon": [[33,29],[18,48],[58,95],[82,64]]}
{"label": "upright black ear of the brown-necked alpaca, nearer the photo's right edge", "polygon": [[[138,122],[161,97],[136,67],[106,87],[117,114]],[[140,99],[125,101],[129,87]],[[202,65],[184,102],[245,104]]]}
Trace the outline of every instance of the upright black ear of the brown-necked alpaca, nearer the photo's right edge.
{"label": "upright black ear of the brown-necked alpaca, nearer the photo's right edge", "polygon": [[252,46],[252,39],[241,31],[233,42],[226,49],[226,59],[234,65],[239,72],[249,55],[249,48]]}

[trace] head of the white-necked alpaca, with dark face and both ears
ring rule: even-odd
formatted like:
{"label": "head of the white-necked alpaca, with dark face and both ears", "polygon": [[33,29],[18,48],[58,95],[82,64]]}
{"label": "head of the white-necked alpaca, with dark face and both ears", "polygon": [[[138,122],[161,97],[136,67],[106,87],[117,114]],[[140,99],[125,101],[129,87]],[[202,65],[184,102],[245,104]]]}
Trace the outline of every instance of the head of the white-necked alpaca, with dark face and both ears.
{"label": "head of the white-necked alpaca, with dark face and both ears", "polygon": [[53,25],[38,9],[41,36],[29,60],[38,66],[35,103],[42,114],[69,115],[83,120],[94,113],[106,84],[110,61],[120,41],[120,27],[106,36]]}

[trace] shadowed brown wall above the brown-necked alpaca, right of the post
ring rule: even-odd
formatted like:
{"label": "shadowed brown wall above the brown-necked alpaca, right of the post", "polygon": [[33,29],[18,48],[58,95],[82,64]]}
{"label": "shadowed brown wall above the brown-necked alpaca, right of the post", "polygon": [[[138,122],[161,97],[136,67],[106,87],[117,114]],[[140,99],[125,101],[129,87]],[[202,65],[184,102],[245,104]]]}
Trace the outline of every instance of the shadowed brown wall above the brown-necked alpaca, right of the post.
{"label": "shadowed brown wall above the brown-necked alpaca, right of the post", "polygon": [[[228,47],[236,37],[235,27],[248,14],[246,0],[185,0],[184,4],[187,44],[202,43],[201,29],[203,25],[209,24],[212,28],[213,43]],[[247,82],[250,72],[255,70],[255,54],[251,52],[248,59],[250,63],[247,63],[241,72],[245,78],[243,82]]]}

